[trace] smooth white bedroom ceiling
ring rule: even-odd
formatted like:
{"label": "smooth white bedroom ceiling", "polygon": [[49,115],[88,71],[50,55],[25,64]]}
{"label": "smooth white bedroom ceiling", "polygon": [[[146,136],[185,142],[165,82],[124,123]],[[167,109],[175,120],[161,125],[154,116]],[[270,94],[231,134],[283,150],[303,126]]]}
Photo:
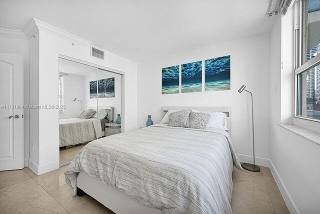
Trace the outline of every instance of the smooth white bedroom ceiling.
{"label": "smooth white bedroom ceiling", "polygon": [[32,18],[133,61],[268,32],[269,0],[1,0],[0,28]]}

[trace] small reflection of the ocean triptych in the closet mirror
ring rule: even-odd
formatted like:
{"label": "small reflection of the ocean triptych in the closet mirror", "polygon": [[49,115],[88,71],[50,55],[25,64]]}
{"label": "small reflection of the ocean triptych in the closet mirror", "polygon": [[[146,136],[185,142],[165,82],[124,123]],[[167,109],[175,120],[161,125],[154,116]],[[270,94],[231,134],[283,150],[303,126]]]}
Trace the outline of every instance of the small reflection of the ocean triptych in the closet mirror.
{"label": "small reflection of the ocean triptych in the closet mirror", "polygon": [[114,97],[114,77],[90,81],[90,99]]}

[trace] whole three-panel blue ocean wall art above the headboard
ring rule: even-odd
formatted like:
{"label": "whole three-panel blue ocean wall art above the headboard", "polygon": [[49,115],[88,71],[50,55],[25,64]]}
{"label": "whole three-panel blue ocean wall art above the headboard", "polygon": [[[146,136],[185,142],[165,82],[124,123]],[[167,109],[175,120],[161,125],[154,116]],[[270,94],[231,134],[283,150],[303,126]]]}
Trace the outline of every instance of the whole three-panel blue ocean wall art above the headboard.
{"label": "whole three-panel blue ocean wall art above the headboard", "polygon": [[[230,90],[230,55],[204,60],[204,90]],[[181,64],[181,92],[202,91],[202,61]],[[179,93],[179,65],[162,68],[162,94]]]}

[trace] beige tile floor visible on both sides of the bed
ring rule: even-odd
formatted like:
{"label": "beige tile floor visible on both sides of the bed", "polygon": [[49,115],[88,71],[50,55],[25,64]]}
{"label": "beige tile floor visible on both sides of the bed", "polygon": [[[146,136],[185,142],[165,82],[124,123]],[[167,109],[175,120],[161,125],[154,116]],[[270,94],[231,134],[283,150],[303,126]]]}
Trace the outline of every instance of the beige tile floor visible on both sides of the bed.
{"label": "beige tile floor visible on both sides of the bed", "polygon": [[[72,197],[66,167],[39,176],[28,167],[0,171],[0,213],[113,213],[88,195]],[[289,213],[269,168],[234,168],[232,180],[233,213]]]}

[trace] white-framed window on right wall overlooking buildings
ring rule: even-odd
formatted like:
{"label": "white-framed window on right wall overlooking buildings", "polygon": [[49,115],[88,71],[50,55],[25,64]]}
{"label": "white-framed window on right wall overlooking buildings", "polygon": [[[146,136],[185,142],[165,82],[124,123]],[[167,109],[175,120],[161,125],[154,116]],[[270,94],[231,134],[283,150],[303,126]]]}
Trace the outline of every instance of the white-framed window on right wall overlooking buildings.
{"label": "white-framed window on right wall overlooking buildings", "polygon": [[301,10],[302,65],[295,69],[296,115],[320,121],[320,1],[302,0]]}

